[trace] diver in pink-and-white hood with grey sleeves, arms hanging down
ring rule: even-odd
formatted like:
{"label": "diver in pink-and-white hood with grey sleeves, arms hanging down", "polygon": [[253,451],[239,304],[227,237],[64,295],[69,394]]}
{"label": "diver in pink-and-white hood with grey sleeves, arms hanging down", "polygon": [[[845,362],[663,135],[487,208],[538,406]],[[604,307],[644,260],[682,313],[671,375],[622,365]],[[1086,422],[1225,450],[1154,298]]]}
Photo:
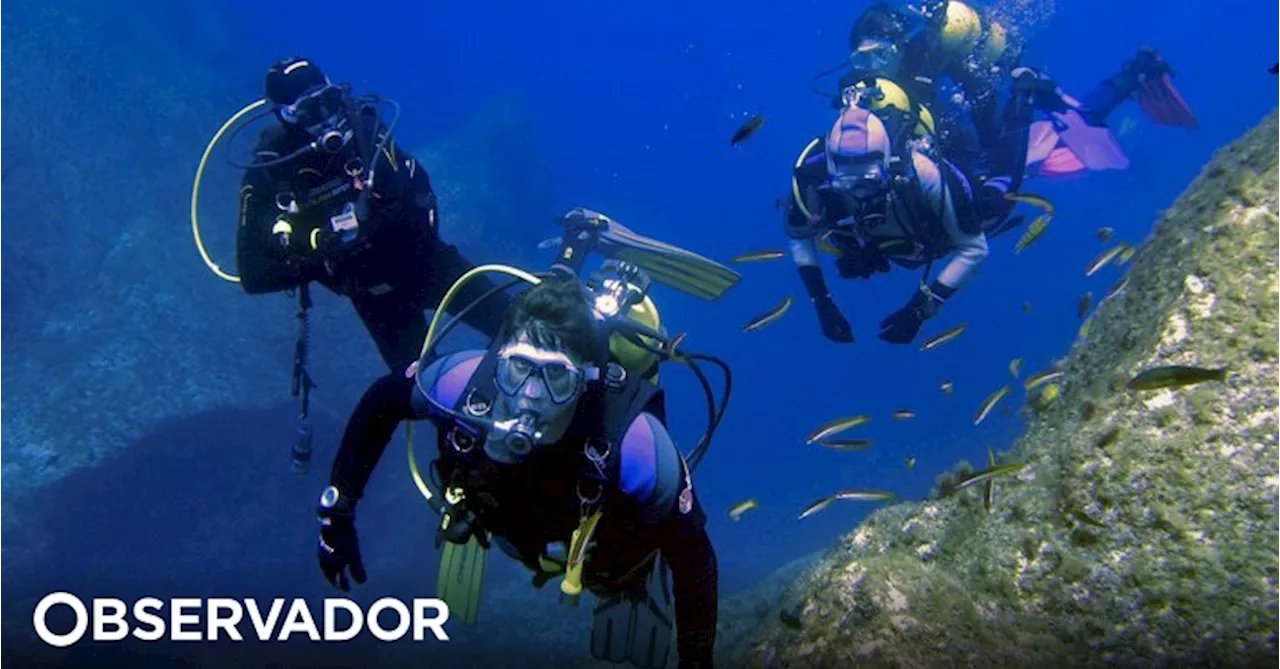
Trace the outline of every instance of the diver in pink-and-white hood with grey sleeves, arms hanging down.
{"label": "diver in pink-and-white hood with grey sleeves, arms hanging down", "polygon": [[[950,161],[931,157],[928,139],[895,142],[877,111],[854,105],[796,162],[785,228],[800,280],[832,342],[852,343],[854,333],[827,289],[819,246],[837,256],[844,278],[886,272],[891,261],[925,267],[919,289],[881,322],[881,339],[906,344],[982,267],[987,230],[1005,225],[1010,180],[975,185]],[[928,280],[933,262],[947,255],[954,258]]]}

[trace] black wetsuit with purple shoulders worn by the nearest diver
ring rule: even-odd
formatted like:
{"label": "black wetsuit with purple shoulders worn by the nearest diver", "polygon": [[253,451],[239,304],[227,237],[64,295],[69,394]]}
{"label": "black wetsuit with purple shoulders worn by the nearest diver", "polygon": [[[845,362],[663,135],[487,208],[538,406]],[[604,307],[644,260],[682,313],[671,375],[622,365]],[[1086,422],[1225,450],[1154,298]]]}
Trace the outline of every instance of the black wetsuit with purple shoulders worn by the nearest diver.
{"label": "black wetsuit with purple shoulders worn by the nearest diver", "polygon": [[[449,405],[467,395],[463,386],[472,375],[483,374],[475,371],[480,362],[475,352],[462,352],[438,359],[419,374],[426,379],[433,397]],[[374,382],[343,432],[330,485],[342,496],[358,500],[399,423],[424,418],[436,423],[440,462],[444,462],[451,421],[424,407],[412,379],[393,374]],[[580,404],[573,425],[589,422]],[[680,668],[709,669],[716,643],[718,569],[705,530],[707,517],[687,467],[662,423],[643,412],[630,426],[626,437],[612,449],[623,462],[603,490],[603,516],[594,535],[596,547],[590,551],[582,582],[598,595],[602,588],[609,592],[609,585],[625,590],[634,585],[627,578],[634,577],[628,574],[621,581],[618,577],[660,551],[673,585]],[[581,434],[573,426],[567,432]],[[483,459],[477,469],[461,475],[468,500],[488,500],[480,513],[483,527],[526,564],[536,563],[536,551],[545,541],[567,539],[577,527],[581,480],[575,458],[580,459],[582,452],[581,444],[570,444],[572,440],[566,436],[561,444],[540,446],[538,457],[516,466],[495,466]],[[461,472],[457,463],[442,469],[442,480]]]}

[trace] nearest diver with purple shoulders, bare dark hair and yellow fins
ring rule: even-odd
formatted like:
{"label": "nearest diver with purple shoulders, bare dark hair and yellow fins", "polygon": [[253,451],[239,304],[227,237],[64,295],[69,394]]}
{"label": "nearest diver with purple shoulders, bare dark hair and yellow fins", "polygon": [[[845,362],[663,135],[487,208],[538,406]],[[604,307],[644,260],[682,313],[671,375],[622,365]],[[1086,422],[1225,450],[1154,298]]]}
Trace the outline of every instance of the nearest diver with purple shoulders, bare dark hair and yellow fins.
{"label": "nearest diver with purple shoulders, bare dark hair and yellow fins", "polygon": [[[430,482],[417,468],[412,436],[410,466],[443,517],[438,596],[452,618],[475,624],[485,558],[497,545],[529,567],[535,587],[562,576],[568,604],[584,588],[600,599],[594,657],[666,666],[675,595],[678,666],[710,668],[718,571],[691,475],[723,417],[731,377],[723,361],[685,352],[684,335],[666,336],[648,290],[652,280],[717,299],[741,276],[594,211],[572,210],[562,223],[550,271],[485,266],[447,294],[449,302],[486,270],[535,284],[507,308],[488,349],[434,356],[452,326],[436,334],[448,307],[442,303],[420,362],[379,379],[361,398],[317,507],[320,568],[342,590],[349,590],[348,574],[365,582],[357,503],[397,426],[426,420],[436,427],[439,453]],[[609,260],[580,280],[593,251]],[[708,429],[689,455],[666,427],[663,361],[687,365],[708,395]],[[699,361],[724,374],[718,408]]]}

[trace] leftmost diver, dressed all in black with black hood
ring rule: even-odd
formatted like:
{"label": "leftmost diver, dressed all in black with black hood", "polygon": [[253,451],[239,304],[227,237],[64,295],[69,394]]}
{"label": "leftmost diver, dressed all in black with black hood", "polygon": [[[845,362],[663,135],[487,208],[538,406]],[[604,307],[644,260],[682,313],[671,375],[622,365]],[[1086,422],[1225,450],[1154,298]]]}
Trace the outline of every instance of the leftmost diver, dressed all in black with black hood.
{"label": "leftmost diver, dressed all in black with black hood", "polygon": [[[426,336],[424,308],[472,267],[439,237],[428,170],[396,145],[376,98],[352,97],[310,60],[273,65],[266,98],[279,125],[262,133],[241,185],[241,287],[260,294],[317,281],[351,298],[401,372]],[[462,298],[486,284],[468,284]],[[506,304],[498,295],[466,322],[492,336]]]}

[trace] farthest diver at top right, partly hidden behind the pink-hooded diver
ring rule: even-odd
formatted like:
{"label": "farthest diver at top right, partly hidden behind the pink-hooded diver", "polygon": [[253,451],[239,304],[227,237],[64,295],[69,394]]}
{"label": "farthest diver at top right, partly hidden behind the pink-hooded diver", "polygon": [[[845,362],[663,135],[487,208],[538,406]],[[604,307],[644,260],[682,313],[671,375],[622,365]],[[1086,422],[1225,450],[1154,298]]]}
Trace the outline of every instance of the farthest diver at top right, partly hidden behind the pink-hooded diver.
{"label": "farthest diver at top right, partly hidden behind the pink-hooded diver", "polygon": [[[959,0],[923,0],[901,8],[881,1],[859,15],[849,49],[851,69],[841,78],[838,95],[815,90],[832,106],[842,109],[850,97],[877,88],[890,98],[887,104],[922,109],[938,151],[972,178],[1018,173],[1024,125],[1015,123],[1011,129],[998,104],[1000,88],[1019,73],[1021,45],[1014,31]],[[1070,127],[1101,127],[1116,106],[1137,97],[1157,124],[1194,128],[1196,116],[1174,88],[1171,74],[1155,50],[1139,50],[1079,102],[1084,123]],[[955,92],[943,90],[946,81]]]}

